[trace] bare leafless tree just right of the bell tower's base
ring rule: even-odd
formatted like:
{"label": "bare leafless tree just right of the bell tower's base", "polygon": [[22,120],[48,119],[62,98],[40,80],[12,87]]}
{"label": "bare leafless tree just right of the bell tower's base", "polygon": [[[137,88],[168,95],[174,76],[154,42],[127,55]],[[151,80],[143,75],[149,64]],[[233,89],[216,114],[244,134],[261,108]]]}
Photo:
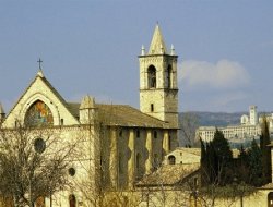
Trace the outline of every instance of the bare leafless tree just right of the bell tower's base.
{"label": "bare leafless tree just right of the bell tower's base", "polygon": [[192,147],[195,144],[195,130],[199,126],[199,118],[192,112],[185,112],[179,120],[182,145]]}

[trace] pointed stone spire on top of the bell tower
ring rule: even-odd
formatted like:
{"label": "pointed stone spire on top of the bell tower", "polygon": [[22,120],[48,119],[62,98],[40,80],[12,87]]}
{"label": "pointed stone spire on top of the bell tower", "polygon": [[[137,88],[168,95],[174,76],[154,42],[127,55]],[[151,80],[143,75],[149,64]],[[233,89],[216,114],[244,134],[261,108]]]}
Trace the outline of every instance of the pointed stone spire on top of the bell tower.
{"label": "pointed stone spire on top of the bell tower", "polygon": [[167,48],[164,42],[159,25],[156,24],[154,36],[150,45],[149,54],[161,54],[161,53],[167,53]]}

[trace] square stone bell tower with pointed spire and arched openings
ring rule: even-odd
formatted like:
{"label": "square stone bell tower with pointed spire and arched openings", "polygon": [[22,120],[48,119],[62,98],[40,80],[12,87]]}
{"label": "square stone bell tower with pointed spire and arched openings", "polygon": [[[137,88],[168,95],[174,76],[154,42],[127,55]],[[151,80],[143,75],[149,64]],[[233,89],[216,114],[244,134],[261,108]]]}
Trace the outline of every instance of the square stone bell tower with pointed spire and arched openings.
{"label": "square stone bell tower with pointed spire and arched openings", "polygon": [[177,58],[167,50],[157,24],[150,50],[142,46],[140,61],[140,110],[178,127]]}

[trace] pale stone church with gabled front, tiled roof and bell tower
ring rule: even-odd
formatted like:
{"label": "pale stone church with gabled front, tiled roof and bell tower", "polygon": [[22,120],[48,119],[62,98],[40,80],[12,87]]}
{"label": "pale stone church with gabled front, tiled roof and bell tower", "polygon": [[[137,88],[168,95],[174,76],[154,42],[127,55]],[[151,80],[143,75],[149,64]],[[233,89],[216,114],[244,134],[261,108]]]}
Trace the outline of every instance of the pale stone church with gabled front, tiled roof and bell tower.
{"label": "pale stone church with gabled front, tiled roof and bell tower", "polygon": [[69,102],[41,70],[7,115],[0,106],[2,129],[43,124],[40,131],[63,139],[84,137],[78,146],[82,157],[69,160],[74,184],[56,194],[52,206],[97,206],[102,192],[133,188],[178,146],[177,58],[156,25],[149,52],[142,47],[139,56],[140,110],[97,104],[91,96]]}

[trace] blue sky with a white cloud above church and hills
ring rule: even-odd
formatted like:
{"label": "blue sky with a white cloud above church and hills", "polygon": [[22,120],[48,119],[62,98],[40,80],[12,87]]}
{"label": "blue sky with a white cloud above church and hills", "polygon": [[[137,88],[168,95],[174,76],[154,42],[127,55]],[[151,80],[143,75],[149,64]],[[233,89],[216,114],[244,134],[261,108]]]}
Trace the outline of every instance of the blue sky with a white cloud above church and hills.
{"label": "blue sky with a white cloud above church and hills", "polygon": [[159,23],[179,56],[180,111],[273,110],[272,0],[0,0],[0,102],[38,71],[68,101],[139,108],[141,46]]}

